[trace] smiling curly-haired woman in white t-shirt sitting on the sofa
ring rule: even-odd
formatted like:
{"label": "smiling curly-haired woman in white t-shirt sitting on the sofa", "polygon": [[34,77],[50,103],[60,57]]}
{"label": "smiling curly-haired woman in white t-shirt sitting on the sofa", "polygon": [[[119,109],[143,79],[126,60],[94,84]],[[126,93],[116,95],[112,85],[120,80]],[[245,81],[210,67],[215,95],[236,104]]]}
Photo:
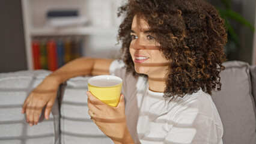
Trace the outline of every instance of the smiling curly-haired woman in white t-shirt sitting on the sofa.
{"label": "smiling curly-haired woman in white t-shirt sitting on the sofa", "polygon": [[88,114],[114,143],[222,143],[210,97],[226,60],[218,11],[203,0],[130,0],[119,10],[123,61],[80,58],[59,68],[23,104],[27,122],[37,124],[45,105],[49,119],[58,85],[70,77],[112,74],[123,79],[117,107],[87,95]]}

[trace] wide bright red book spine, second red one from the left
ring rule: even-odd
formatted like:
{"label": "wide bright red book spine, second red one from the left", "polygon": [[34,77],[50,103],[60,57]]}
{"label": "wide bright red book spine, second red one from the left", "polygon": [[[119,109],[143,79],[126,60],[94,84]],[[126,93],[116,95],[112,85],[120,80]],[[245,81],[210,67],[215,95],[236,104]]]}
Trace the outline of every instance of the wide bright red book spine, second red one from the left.
{"label": "wide bright red book spine, second red one from the left", "polygon": [[48,70],[55,71],[58,68],[58,59],[56,52],[56,43],[53,40],[49,40],[47,43],[47,63]]}

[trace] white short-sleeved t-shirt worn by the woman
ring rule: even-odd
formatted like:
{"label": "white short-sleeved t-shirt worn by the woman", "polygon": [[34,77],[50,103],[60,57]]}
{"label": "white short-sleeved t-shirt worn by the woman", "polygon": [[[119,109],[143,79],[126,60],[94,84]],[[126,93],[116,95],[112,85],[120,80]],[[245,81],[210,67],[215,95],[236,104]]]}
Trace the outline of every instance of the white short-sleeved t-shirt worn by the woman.
{"label": "white short-sleeved t-shirt worn by the woman", "polygon": [[222,143],[221,118],[209,94],[200,90],[169,103],[123,66],[116,60],[109,71],[123,79],[127,127],[136,143]]}

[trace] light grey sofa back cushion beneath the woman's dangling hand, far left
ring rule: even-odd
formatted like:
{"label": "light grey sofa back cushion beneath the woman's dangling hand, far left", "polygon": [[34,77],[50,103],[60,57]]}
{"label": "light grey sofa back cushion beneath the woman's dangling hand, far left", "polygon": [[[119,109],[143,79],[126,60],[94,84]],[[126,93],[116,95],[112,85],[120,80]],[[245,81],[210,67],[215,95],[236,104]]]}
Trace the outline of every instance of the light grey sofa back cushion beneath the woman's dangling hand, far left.
{"label": "light grey sofa back cushion beneath the woman's dangling hand, far left", "polygon": [[[0,143],[59,143],[59,110],[55,103],[48,121],[30,127],[23,102],[50,71],[17,71],[0,74]],[[43,120],[43,117],[41,118]]]}

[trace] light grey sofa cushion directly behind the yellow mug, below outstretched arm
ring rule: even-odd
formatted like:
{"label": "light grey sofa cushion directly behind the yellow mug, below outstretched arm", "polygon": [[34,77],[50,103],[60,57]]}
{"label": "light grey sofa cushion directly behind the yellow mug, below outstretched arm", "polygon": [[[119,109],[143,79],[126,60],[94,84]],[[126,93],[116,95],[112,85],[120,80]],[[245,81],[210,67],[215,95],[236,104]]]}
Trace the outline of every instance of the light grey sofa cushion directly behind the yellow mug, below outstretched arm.
{"label": "light grey sofa cushion directly behind the yellow mug, below outstretched arm", "polygon": [[89,78],[75,77],[67,81],[60,109],[61,143],[113,143],[88,115],[86,92]]}

